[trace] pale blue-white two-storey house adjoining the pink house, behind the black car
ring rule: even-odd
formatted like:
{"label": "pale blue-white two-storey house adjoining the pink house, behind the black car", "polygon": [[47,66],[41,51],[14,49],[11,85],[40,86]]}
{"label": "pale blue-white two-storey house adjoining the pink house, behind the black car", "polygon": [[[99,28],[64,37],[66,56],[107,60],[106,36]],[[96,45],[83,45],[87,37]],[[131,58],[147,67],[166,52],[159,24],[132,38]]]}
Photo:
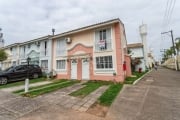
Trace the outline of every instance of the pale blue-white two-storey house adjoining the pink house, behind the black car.
{"label": "pale blue-white two-storey house adjoining the pink house, behind the black car", "polygon": [[20,64],[27,64],[27,58],[30,57],[31,64],[39,65],[43,72],[49,73],[52,70],[52,43],[51,36],[44,36],[34,40],[21,43],[20,48]]}

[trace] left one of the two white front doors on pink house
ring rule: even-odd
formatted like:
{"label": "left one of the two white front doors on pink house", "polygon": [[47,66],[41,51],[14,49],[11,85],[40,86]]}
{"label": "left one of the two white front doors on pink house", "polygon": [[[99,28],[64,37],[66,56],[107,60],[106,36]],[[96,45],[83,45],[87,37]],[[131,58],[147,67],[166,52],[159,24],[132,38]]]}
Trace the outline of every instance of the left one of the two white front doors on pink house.
{"label": "left one of the two white front doors on pink house", "polygon": [[71,79],[77,79],[77,60],[71,61]]}

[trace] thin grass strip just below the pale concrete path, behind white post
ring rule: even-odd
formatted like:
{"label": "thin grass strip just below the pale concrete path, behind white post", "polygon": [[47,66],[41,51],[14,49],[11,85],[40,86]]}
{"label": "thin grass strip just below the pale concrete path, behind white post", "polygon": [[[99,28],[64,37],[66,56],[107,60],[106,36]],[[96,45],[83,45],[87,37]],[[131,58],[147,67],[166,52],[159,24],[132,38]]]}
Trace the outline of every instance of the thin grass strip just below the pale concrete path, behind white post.
{"label": "thin grass strip just below the pale concrete path, behind white post", "polygon": [[[36,86],[36,87],[30,87],[29,91],[36,90],[36,89],[41,89],[41,88],[46,88],[46,87],[49,87],[49,86],[59,85],[59,84],[62,84],[64,82],[69,82],[69,81],[68,80],[58,80],[58,81],[54,81],[53,83],[40,85],[40,86]],[[22,93],[24,93],[24,89],[14,91],[13,93],[22,94]]]}

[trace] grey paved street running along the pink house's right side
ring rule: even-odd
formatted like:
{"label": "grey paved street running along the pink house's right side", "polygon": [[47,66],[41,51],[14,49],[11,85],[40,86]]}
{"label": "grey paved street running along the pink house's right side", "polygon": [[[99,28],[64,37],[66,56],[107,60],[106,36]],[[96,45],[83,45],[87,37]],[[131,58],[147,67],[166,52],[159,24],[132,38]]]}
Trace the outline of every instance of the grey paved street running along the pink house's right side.
{"label": "grey paved street running along the pink house's right side", "polygon": [[159,68],[137,85],[125,86],[107,120],[179,120],[180,72]]}

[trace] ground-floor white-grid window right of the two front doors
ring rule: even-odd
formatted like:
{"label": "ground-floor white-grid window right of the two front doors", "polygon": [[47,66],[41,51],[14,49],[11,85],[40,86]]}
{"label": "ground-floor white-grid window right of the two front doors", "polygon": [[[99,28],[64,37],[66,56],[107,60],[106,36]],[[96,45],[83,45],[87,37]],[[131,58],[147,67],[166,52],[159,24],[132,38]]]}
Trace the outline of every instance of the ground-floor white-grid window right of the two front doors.
{"label": "ground-floor white-grid window right of the two front doors", "polygon": [[96,69],[112,69],[113,61],[112,56],[96,57]]}

